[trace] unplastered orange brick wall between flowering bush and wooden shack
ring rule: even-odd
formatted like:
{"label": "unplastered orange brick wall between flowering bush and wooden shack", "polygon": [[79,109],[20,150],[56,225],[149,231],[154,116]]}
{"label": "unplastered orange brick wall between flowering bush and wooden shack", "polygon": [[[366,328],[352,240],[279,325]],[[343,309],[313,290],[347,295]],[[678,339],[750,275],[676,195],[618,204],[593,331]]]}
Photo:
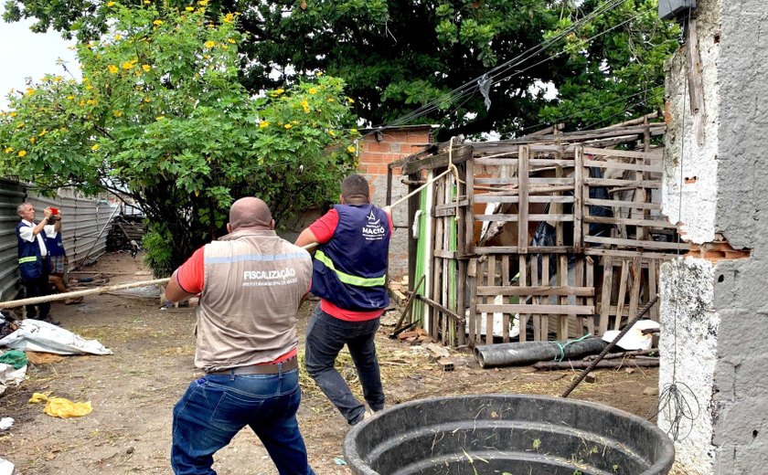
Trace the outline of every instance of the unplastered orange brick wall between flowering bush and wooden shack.
{"label": "unplastered orange brick wall between flowering bush and wooden shack", "polygon": [[[402,128],[383,128],[379,131],[361,131],[363,138],[358,144],[359,173],[370,184],[371,201],[374,205],[387,203],[387,167],[400,158],[421,152],[424,145],[432,142],[430,125]],[[408,195],[408,186],[401,183],[402,170],[392,170],[392,203]],[[392,210],[395,232],[389,244],[389,279],[400,280],[408,275],[408,203]]]}

